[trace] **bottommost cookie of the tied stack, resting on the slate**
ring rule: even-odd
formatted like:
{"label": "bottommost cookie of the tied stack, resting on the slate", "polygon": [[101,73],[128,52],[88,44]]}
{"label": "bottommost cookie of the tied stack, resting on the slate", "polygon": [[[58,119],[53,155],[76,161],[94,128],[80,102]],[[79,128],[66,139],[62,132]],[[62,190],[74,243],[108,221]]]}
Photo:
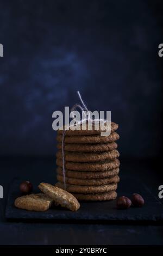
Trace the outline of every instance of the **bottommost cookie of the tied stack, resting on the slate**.
{"label": "bottommost cookie of the tied stack, resting on the slate", "polygon": [[117,197],[115,191],[105,192],[105,193],[96,193],[96,194],[82,194],[82,193],[73,193],[80,201],[104,201],[104,200],[114,200]]}

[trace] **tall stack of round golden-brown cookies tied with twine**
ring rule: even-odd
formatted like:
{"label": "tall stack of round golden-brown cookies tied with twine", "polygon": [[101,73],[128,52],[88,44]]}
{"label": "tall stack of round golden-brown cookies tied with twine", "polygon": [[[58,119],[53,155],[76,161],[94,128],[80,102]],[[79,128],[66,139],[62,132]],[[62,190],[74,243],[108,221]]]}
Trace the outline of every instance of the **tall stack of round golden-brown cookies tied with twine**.
{"label": "tall stack of round golden-brown cookies tied with twine", "polygon": [[[117,197],[120,154],[117,151],[118,125],[111,122],[109,136],[102,130],[68,130],[65,133],[66,190],[79,200],[111,200]],[[57,179],[55,186],[65,188],[62,169],[62,132],[58,131]]]}

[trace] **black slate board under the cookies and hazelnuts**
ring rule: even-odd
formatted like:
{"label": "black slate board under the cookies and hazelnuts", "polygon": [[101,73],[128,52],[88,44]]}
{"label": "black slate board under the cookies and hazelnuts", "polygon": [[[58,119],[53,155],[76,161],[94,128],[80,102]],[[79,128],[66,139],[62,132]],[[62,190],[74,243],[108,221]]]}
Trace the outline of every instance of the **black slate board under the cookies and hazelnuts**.
{"label": "black slate board under the cookies and hazelnuts", "polygon": [[[103,221],[163,221],[163,205],[150,190],[135,179],[121,179],[118,185],[118,196],[130,196],[131,193],[140,193],[145,198],[143,208],[131,207],[129,210],[117,210],[116,201],[81,202],[77,212],[56,207],[46,212],[33,212],[16,209],[15,198],[20,196],[19,180],[14,180],[10,186],[5,217],[12,220],[103,220]],[[39,191],[35,191],[39,192]]]}

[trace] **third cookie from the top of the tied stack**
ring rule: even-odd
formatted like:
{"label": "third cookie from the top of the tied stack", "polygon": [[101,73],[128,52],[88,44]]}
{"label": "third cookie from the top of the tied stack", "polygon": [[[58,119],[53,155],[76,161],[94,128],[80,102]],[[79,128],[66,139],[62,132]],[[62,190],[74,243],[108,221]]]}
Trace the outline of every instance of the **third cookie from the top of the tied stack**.
{"label": "third cookie from the top of the tied stack", "polygon": [[[62,149],[62,143],[57,144],[58,149]],[[103,152],[117,148],[117,143],[99,144],[65,144],[64,150],[70,152]]]}

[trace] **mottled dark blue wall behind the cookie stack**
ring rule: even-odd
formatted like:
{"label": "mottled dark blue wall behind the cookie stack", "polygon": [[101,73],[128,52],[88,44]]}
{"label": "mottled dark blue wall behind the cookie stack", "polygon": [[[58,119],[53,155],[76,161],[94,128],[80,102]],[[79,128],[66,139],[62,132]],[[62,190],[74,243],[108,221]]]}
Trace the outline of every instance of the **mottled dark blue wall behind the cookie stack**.
{"label": "mottled dark blue wall behind the cookie stack", "polygon": [[161,150],[161,1],[1,1],[0,153],[52,155],[52,113],[112,112],[122,157]]}

